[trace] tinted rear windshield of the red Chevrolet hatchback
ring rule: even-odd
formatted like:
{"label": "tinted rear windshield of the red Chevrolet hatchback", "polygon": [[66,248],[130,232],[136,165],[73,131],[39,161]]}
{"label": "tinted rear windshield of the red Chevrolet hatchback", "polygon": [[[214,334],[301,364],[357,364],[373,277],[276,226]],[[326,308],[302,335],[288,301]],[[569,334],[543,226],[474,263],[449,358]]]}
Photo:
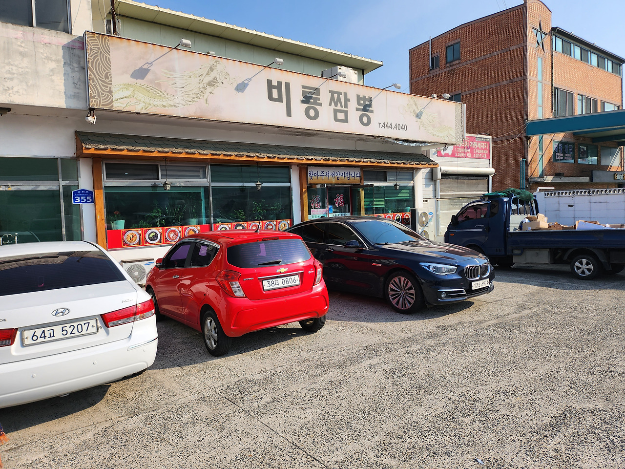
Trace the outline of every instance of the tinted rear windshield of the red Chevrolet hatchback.
{"label": "tinted rear windshield of the red Chevrolet hatchback", "polygon": [[228,263],[241,268],[294,264],[310,258],[311,253],[302,240],[258,241],[227,249]]}

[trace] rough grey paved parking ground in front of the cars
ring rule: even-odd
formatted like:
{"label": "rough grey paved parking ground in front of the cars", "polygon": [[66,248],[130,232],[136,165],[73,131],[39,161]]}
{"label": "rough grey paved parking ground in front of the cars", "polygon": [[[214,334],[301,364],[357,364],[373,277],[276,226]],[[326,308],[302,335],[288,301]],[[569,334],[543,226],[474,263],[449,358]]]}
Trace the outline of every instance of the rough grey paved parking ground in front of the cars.
{"label": "rough grey paved parking ground in front of the cars", "polygon": [[325,328],[158,323],[145,373],[0,410],[13,468],[622,468],[625,273],[497,270],[404,316],[331,293]]}

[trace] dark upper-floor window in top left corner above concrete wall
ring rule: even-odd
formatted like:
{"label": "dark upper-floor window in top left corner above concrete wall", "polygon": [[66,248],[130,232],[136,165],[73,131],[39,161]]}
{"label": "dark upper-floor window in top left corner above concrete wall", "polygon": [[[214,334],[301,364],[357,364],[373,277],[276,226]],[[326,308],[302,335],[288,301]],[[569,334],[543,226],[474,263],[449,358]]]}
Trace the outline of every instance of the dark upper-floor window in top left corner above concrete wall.
{"label": "dark upper-floor window in top left corner above concrete wall", "polygon": [[[32,7],[34,6],[34,11]],[[68,0],[14,0],[0,3],[0,21],[69,33]]]}

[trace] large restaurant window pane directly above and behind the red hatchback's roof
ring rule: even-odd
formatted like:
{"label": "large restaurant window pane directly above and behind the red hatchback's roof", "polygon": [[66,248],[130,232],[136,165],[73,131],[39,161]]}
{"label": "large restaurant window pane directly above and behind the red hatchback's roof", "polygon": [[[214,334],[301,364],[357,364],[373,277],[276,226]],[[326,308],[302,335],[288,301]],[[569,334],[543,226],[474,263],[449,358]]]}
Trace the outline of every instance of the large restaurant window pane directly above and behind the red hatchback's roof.
{"label": "large restaurant window pane directly above and behind the red hatchback's roof", "polygon": [[213,223],[291,219],[291,187],[213,186]]}

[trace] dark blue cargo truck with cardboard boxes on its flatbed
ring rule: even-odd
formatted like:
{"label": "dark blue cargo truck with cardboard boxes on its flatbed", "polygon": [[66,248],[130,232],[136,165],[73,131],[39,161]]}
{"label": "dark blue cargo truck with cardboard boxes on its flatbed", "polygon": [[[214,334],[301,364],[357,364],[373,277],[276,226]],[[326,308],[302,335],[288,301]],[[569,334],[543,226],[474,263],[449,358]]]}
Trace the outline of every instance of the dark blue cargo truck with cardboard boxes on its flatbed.
{"label": "dark blue cargo truck with cardboard boxes on its flatbed", "polygon": [[445,242],[486,255],[492,264],[569,264],[577,278],[591,280],[625,267],[625,228],[522,230],[539,213],[536,199],[483,196],[451,217]]}

